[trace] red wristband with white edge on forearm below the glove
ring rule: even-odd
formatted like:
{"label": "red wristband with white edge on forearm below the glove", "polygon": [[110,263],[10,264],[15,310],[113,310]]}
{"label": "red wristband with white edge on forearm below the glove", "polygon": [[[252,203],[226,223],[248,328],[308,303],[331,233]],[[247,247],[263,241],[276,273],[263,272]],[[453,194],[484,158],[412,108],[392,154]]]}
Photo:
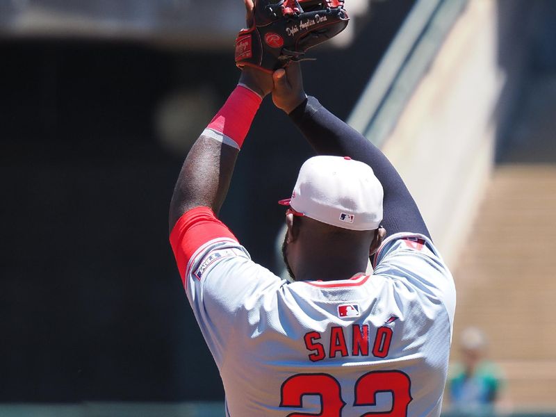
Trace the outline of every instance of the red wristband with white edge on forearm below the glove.
{"label": "red wristband with white edge on forearm below the glove", "polygon": [[262,101],[256,92],[238,85],[203,135],[241,149]]}

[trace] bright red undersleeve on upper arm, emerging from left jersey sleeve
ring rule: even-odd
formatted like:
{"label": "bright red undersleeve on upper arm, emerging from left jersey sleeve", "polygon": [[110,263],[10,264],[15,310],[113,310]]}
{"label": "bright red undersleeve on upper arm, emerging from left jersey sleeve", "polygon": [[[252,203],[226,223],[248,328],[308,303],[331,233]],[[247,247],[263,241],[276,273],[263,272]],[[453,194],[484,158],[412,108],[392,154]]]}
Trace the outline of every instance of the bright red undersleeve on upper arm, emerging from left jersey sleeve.
{"label": "bright red undersleeve on upper arm, emerging from left jersey sleeve", "polygon": [[186,268],[195,252],[207,242],[217,238],[238,239],[208,207],[195,207],[186,211],[176,222],[170,234],[170,245],[181,275],[185,282]]}

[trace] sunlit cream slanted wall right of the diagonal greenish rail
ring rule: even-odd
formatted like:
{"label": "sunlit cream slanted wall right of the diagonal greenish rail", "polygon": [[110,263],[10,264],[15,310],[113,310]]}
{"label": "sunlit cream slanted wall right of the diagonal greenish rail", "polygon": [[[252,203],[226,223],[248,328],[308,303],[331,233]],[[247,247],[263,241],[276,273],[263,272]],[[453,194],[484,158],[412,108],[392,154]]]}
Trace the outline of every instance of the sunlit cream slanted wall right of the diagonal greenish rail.
{"label": "sunlit cream slanted wall right of the diagonal greenish rail", "polygon": [[493,166],[509,82],[499,64],[499,26],[496,1],[469,1],[383,147],[449,265]]}

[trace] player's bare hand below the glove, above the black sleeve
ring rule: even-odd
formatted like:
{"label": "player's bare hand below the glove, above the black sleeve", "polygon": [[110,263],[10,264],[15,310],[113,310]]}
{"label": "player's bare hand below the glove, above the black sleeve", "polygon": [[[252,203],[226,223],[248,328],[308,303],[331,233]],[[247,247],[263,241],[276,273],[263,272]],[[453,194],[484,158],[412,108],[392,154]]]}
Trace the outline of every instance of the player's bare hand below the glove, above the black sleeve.
{"label": "player's bare hand below the glove, above the black sleeve", "polygon": [[303,89],[300,63],[293,62],[285,69],[276,70],[272,78],[274,79],[272,101],[277,108],[290,114],[307,98]]}

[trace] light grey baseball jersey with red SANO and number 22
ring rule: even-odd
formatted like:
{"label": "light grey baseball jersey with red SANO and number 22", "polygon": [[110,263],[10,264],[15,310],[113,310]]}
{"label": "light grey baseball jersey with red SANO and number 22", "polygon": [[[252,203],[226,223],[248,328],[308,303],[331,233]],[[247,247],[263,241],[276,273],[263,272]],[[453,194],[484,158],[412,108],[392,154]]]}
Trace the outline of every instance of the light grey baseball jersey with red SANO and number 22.
{"label": "light grey baseball jersey with red SANO and number 22", "polygon": [[425,236],[389,237],[373,275],[338,281],[280,279],[230,237],[188,259],[227,416],[439,416],[455,286]]}

